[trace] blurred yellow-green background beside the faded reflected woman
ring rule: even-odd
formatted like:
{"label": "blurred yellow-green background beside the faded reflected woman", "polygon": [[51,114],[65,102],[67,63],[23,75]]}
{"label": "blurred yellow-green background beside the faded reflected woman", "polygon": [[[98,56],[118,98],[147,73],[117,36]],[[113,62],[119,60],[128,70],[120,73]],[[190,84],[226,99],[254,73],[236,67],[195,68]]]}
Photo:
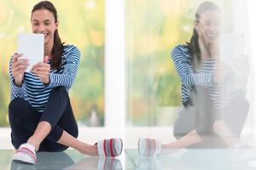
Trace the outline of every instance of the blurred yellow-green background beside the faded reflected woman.
{"label": "blurred yellow-green background beside the faded reflected woman", "polygon": [[[181,106],[181,82],[172,48],[189,42],[202,0],[126,0],[128,126],[172,126]],[[232,0],[213,0],[221,7]],[[227,12],[226,14],[231,14]]]}

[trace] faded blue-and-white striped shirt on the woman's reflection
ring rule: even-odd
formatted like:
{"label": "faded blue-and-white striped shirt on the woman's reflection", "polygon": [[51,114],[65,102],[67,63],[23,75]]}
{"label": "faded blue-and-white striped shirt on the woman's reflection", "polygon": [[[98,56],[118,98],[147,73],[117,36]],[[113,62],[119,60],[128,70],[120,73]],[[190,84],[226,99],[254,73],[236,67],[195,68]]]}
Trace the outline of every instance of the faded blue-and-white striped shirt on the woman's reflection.
{"label": "faded blue-and-white striped shirt on the woman's reflection", "polygon": [[178,76],[182,82],[182,102],[186,104],[189,99],[190,90],[194,86],[203,86],[213,101],[213,105],[221,109],[230,101],[231,90],[236,88],[236,75],[230,72],[221,82],[213,82],[213,66],[215,59],[201,61],[201,67],[196,71],[192,70],[191,56],[188,46],[178,45],[172,49],[172,60],[177,68]]}

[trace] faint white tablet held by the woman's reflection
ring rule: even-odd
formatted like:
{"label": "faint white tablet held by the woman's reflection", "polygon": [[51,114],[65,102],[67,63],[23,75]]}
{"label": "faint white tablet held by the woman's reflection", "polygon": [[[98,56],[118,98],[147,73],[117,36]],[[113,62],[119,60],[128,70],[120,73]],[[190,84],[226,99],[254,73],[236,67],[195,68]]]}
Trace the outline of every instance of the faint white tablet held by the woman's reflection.
{"label": "faint white tablet held by the woman's reflection", "polygon": [[236,59],[245,54],[244,34],[222,34],[219,40],[219,60],[227,65],[232,65]]}

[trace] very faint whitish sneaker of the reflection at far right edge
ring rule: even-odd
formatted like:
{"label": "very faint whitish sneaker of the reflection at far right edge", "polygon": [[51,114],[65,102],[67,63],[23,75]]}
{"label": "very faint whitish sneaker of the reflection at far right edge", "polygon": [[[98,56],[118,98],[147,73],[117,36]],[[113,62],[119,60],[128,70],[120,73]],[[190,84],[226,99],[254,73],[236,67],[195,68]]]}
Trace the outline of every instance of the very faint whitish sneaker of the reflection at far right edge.
{"label": "very faint whitish sneaker of the reflection at far right edge", "polygon": [[232,148],[232,161],[249,161],[256,159],[256,151],[248,144],[238,142]]}

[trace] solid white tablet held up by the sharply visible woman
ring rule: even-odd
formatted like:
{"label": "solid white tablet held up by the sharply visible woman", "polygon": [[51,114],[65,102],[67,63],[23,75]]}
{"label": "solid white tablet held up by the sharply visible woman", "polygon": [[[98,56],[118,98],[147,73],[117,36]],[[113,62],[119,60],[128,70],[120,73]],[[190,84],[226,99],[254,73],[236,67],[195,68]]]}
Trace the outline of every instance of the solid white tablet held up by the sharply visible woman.
{"label": "solid white tablet held up by the sharply visible woman", "polygon": [[22,58],[29,59],[29,66],[26,71],[32,69],[32,65],[44,61],[44,34],[19,34],[18,54],[23,54]]}

